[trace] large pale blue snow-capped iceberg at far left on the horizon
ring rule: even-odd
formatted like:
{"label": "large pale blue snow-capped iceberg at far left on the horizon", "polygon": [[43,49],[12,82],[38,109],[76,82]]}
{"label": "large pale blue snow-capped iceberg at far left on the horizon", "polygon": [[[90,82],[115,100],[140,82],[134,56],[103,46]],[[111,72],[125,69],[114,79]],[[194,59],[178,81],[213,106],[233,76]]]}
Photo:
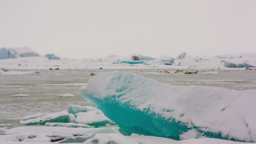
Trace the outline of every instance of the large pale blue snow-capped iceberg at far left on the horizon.
{"label": "large pale blue snow-capped iceberg at far left on the horizon", "polygon": [[18,57],[40,56],[39,53],[29,47],[0,48],[0,59],[11,59]]}

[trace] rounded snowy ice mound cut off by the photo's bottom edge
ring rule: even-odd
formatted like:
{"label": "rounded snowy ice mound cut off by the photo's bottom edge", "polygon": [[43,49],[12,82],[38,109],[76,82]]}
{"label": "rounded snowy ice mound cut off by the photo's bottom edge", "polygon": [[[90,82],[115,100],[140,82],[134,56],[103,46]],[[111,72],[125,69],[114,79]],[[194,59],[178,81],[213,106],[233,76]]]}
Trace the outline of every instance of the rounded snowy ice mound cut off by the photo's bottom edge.
{"label": "rounded snowy ice mound cut off by the photo's bottom edge", "polygon": [[128,139],[120,133],[101,133],[88,139],[84,144],[139,144],[139,142]]}

